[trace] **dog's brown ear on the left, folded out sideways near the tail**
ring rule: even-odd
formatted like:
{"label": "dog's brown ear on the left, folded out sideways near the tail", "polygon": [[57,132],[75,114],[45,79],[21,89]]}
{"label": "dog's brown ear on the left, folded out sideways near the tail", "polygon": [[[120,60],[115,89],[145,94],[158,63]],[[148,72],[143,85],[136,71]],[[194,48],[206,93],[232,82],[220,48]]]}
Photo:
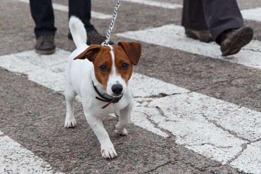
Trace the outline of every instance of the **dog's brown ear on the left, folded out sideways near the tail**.
{"label": "dog's brown ear on the left, folded out sideways near the tail", "polygon": [[88,59],[90,62],[94,60],[100,51],[101,45],[90,45],[84,52],[74,58],[76,59]]}

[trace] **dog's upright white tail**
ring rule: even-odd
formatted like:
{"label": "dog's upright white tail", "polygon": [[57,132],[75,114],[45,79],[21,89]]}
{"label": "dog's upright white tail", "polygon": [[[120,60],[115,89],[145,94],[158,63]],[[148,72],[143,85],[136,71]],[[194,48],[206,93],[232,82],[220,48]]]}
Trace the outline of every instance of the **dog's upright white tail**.
{"label": "dog's upright white tail", "polygon": [[86,45],[87,33],[85,25],[78,17],[71,16],[69,21],[69,28],[72,33],[76,47],[79,48],[83,45]]}

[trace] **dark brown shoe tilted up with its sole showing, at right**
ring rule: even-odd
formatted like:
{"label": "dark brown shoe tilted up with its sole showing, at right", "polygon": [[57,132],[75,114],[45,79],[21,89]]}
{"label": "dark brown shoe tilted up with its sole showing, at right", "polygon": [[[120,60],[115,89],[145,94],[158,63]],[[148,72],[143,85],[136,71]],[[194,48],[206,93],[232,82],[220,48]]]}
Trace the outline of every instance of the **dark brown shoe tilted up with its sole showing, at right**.
{"label": "dark brown shoe tilted up with its sole showing, at right", "polygon": [[226,30],[218,36],[222,56],[237,54],[253,38],[253,29],[242,27]]}

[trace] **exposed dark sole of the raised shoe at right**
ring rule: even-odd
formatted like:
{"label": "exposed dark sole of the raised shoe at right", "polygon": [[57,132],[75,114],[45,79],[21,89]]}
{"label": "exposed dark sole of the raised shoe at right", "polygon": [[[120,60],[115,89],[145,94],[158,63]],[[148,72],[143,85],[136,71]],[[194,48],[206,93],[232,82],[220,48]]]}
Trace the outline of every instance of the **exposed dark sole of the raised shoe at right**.
{"label": "exposed dark sole of the raised shoe at right", "polygon": [[253,38],[253,30],[249,27],[242,29],[232,44],[222,52],[222,56],[237,54],[241,48],[247,45]]}

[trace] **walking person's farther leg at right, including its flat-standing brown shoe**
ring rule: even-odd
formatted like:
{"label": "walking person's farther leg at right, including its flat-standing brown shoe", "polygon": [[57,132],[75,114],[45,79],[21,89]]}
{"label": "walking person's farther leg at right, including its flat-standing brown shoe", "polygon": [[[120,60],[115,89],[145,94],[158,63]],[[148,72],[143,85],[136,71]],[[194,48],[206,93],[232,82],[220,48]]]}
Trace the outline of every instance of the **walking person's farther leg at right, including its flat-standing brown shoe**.
{"label": "walking person's farther leg at right, including its flat-standing brown shoe", "polygon": [[213,41],[205,22],[201,0],[183,0],[181,25],[184,26],[187,37],[202,42]]}

